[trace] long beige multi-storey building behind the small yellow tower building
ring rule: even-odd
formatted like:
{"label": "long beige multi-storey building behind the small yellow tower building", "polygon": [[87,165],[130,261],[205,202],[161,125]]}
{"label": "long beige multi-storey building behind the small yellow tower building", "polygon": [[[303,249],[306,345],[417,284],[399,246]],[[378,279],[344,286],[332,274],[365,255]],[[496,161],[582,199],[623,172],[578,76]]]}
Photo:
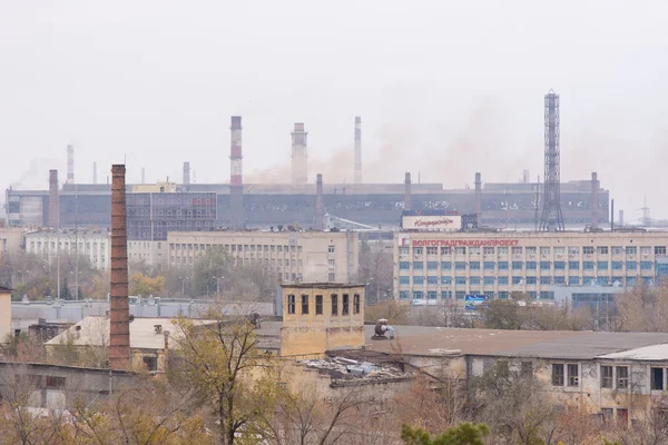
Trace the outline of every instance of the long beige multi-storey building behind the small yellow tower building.
{"label": "long beige multi-storey building behind the small yellow tower building", "polygon": [[171,231],[167,244],[173,267],[193,267],[218,246],[235,265],[263,265],[287,283],[350,283],[358,267],[353,231]]}

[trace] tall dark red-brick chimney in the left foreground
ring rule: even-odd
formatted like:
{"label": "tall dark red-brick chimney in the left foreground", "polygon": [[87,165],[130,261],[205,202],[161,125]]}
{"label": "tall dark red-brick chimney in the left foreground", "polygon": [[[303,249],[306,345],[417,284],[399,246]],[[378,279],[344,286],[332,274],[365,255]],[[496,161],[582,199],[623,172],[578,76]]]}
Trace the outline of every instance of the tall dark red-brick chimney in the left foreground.
{"label": "tall dark red-brick chimney in the left foreground", "polygon": [[109,367],[125,369],[130,360],[128,240],[125,165],[111,166],[111,293]]}

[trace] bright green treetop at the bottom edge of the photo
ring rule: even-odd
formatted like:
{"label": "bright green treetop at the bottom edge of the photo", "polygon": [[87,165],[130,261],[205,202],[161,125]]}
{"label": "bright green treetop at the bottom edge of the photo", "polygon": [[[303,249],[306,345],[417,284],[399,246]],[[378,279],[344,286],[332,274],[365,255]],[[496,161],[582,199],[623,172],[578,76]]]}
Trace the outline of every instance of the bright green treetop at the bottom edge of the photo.
{"label": "bright green treetop at the bottom edge of the photo", "polygon": [[435,437],[422,428],[414,429],[410,425],[402,425],[401,439],[406,445],[484,445],[484,438],[490,434],[485,424],[470,422],[451,426]]}

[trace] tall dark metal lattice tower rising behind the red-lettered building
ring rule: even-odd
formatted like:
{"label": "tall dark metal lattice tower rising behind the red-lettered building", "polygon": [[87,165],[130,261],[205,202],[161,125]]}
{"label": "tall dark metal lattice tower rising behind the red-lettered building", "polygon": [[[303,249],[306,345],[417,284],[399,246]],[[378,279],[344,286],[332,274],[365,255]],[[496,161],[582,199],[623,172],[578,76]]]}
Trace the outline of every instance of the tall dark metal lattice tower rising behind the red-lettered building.
{"label": "tall dark metal lattice tower rising behind the red-lettered building", "polygon": [[546,175],[540,231],[564,230],[561,212],[561,175],[559,148],[559,95],[546,95]]}

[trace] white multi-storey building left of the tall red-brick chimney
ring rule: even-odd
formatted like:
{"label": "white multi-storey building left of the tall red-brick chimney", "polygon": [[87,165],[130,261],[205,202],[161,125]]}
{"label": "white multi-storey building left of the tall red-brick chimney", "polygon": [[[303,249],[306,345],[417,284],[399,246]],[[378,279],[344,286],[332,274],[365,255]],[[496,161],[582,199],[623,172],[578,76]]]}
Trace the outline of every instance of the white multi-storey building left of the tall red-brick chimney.
{"label": "white multi-storey building left of the tall red-brick chimney", "polygon": [[96,269],[107,270],[110,246],[107,230],[39,230],[26,235],[26,251],[41,256],[49,264],[55,264],[59,253],[78,254],[88,258]]}

